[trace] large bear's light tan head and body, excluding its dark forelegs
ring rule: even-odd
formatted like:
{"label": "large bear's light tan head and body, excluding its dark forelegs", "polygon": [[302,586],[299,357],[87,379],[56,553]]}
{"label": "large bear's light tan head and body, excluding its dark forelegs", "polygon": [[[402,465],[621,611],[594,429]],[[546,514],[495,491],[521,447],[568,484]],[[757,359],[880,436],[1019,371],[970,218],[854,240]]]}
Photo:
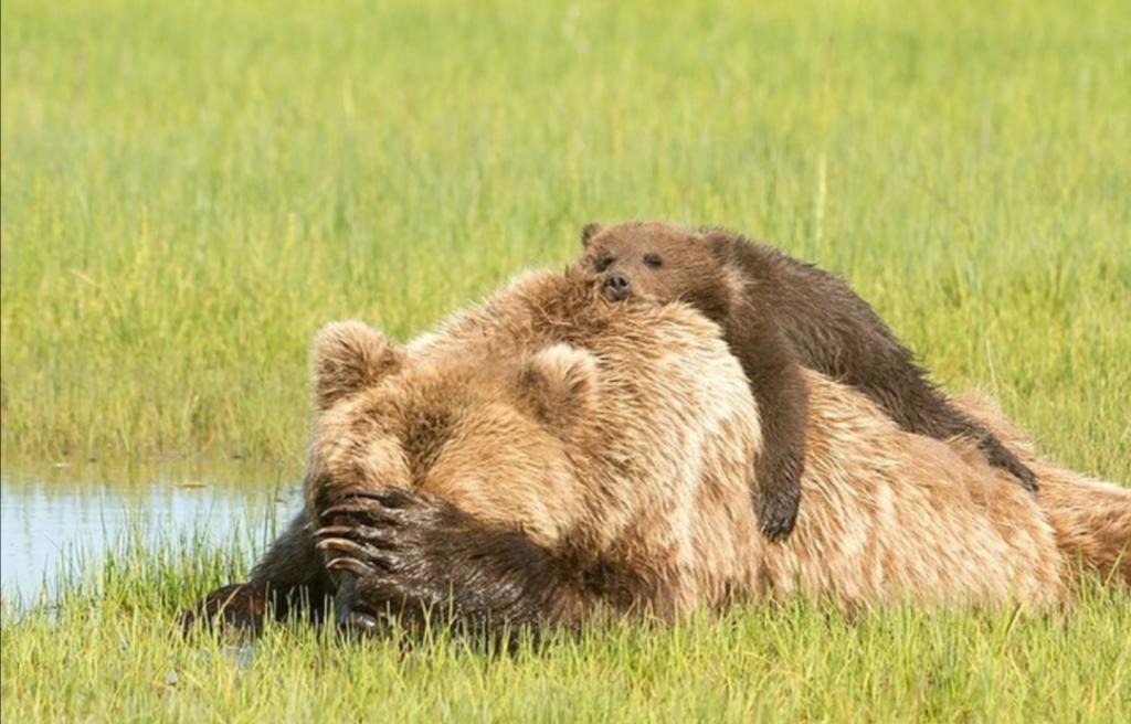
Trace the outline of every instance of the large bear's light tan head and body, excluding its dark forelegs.
{"label": "large bear's light tan head and body, excluding its dark forelegs", "polygon": [[527,273],[404,349],[355,325],[323,333],[311,509],[359,489],[432,492],[579,568],[638,572],[653,591],[640,603],[665,618],[793,592],[846,609],[1045,605],[1070,588],[1069,558],[1110,568],[1131,540],[1131,490],[1025,451],[1035,500],[973,446],[904,433],[809,373],[801,515],[768,543],[748,483],[759,417],[718,328],[592,289]]}

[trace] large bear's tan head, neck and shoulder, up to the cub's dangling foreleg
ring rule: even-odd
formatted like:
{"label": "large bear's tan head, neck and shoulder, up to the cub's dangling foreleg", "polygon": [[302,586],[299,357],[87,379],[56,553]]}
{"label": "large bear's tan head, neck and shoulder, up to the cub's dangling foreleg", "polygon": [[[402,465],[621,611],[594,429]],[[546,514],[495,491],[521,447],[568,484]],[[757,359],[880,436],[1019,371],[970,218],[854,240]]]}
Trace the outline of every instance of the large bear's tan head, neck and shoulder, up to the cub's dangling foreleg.
{"label": "large bear's tan head, neck and shoulder, up to the cub's dangling foreleg", "polygon": [[688,305],[604,303],[589,274],[529,272],[406,347],[331,324],[313,367],[316,517],[403,488],[551,548],[634,556],[723,508],[751,516],[757,405]]}

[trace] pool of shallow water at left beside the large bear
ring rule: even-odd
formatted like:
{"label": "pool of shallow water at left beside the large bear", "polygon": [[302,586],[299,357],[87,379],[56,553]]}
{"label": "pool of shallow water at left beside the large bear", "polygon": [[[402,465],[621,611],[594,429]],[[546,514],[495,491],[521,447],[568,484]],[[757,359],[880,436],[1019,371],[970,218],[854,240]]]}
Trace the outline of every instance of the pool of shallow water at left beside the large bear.
{"label": "pool of shallow water at left beside the large bear", "polygon": [[[300,505],[299,472],[259,465],[170,462],[130,469],[49,464],[0,471],[0,595],[27,602],[76,556],[97,560],[140,531],[144,540],[200,534],[259,543]],[[44,588],[44,586],[46,586]]]}

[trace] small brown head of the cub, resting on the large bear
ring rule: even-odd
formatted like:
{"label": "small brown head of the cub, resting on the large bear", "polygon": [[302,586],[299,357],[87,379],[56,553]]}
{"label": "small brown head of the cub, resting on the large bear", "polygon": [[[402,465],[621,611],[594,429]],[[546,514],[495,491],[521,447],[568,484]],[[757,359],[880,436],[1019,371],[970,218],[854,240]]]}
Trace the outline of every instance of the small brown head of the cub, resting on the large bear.
{"label": "small brown head of the cub, resting on the large bear", "polygon": [[725,288],[724,263],[733,241],[662,221],[615,226],[588,224],[581,230],[581,267],[596,274],[610,302],[640,298],[697,306]]}

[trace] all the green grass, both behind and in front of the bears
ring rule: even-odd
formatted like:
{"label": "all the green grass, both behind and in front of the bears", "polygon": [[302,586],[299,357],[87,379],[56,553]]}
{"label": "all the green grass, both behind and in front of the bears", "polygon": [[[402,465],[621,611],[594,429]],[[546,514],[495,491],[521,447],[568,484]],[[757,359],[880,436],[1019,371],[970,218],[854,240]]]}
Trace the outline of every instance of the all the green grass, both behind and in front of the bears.
{"label": "all the green grass, both behind and in front of the bears", "polygon": [[[948,386],[1126,482],[1121,5],[6,0],[5,465],[297,470],[322,323],[404,339],[570,260],[586,221],[662,217],[846,274]],[[798,604],[513,660],[169,635],[250,559],[123,550],[57,610],[5,611],[5,722],[1131,719],[1125,594]]]}

